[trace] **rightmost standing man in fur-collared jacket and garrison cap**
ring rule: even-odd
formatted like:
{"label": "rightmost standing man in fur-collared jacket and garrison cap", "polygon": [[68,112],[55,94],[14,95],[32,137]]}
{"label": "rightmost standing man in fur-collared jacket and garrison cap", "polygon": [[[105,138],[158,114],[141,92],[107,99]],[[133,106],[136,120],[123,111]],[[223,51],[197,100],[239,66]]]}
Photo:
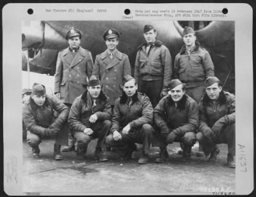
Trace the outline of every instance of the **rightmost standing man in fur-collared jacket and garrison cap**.
{"label": "rightmost standing man in fur-collared jacket and garrison cap", "polygon": [[[175,57],[173,77],[179,78],[186,94],[199,103],[205,92],[205,78],[214,76],[214,65],[210,54],[196,41],[194,29],[185,27],[182,37],[185,45]],[[196,155],[204,156],[201,147]]]}

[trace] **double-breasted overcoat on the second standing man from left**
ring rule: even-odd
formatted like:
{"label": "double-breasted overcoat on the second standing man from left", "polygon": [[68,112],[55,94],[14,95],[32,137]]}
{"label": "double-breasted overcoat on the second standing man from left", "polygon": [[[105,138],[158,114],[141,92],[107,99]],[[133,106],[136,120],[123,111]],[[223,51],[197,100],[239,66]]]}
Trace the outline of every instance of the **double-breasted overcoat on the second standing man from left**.
{"label": "double-breasted overcoat on the second standing man from left", "polygon": [[109,97],[110,104],[115,105],[115,100],[122,94],[122,78],[131,75],[129,58],[115,50],[111,59],[106,50],[96,56],[92,74],[99,77],[102,91]]}

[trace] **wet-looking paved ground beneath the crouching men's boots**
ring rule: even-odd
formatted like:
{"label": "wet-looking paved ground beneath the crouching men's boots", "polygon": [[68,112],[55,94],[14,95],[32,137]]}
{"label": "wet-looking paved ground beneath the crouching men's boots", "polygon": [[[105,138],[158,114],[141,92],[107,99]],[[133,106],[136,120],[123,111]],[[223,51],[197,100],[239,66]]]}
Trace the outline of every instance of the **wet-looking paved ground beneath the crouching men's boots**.
{"label": "wet-looking paved ground beneath the crouching men's boots", "polygon": [[233,192],[236,169],[227,166],[227,145],[221,144],[216,163],[196,157],[198,143],[190,161],[177,154],[179,143],[168,145],[166,163],[154,163],[158,147],[150,148],[148,164],[138,164],[139,152],[124,161],[115,152],[108,152],[108,162],[93,159],[97,140],[90,142],[86,159],[76,159],[76,152],[63,152],[64,159],[53,159],[54,140],[43,140],[40,158],[31,157],[31,147],[23,141],[23,191],[25,193],[65,194],[171,194]]}

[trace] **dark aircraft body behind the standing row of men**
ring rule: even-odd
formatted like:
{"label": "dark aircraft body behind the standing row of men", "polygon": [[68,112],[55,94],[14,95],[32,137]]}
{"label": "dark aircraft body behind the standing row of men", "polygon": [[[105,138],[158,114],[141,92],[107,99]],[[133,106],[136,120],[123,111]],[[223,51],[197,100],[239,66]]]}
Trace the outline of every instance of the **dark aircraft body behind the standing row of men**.
{"label": "dark aircraft body behind the standing row of men", "polygon": [[[54,75],[58,51],[68,47],[65,35],[71,27],[82,32],[81,47],[92,52],[93,59],[106,50],[103,33],[114,28],[120,32],[118,50],[127,54],[132,70],[137,48],[145,42],[143,26],[157,30],[157,40],[169,48],[173,61],[184,45],[182,31],[194,27],[200,45],[209,51],[215,75],[225,82],[225,90],[235,92],[234,21],[24,21],[22,22],[22,70]],[[28,61],[29,59],[29,61]]]}

